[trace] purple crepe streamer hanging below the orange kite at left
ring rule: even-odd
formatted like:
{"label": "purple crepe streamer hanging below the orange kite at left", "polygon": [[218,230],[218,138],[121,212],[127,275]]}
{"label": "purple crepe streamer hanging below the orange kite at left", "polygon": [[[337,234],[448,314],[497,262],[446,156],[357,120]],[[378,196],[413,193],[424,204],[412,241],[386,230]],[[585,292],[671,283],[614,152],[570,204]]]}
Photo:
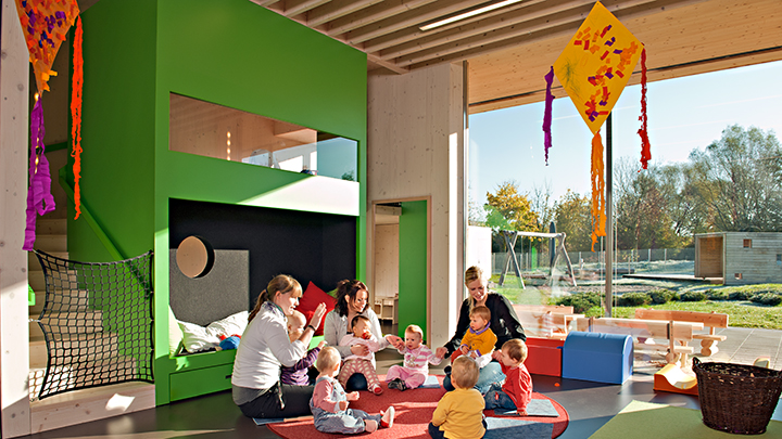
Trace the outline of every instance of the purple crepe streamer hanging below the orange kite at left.
{"label": "purple crepe streamer hanging below the orange kite at left", "polygon": [[[30,114],[30,179],[27,191],[27,227],[25,228],[25,242],[23,250],[33,250],[35,244],[36,212],[48,214],[54,210],[54,197],[51,194],[51,176],[49,175],[49,160],[43,152],[43,107],[41,100],[36,101]],[[40,149],[40,155],[38,155]]]}

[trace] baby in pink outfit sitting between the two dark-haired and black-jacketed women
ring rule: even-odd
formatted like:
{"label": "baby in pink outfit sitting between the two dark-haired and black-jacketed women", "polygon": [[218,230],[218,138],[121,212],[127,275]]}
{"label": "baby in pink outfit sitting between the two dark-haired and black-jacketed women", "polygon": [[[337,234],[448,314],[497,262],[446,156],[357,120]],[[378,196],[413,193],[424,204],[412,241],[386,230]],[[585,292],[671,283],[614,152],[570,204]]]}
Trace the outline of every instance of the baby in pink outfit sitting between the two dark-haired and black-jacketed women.
{"label": "baby in pink outfit sitting between the two dark-haired and black-jacketed women", "polygon": [[429,375],[429,363],[438,365],[442,361],[434,356],[424,340],[424,331],[418,325],[405,330],[405,346],[399,349],[405,356],[404,365],[392,365],[386,374],[389,389],[407,390],[420,387]]}

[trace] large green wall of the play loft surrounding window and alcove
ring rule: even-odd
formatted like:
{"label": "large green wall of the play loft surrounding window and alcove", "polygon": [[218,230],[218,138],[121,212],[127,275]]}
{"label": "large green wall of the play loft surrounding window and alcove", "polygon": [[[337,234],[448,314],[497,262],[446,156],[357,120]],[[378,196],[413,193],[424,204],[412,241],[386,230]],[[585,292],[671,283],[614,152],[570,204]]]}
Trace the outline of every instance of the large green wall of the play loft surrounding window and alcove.
{"label": "large green wall of the play loft surrounding window and alcove", "polygon": [[[174,92],[358,141],[365,277],[365,54],[247,0],[101,0],[83,21],[81,196],[124,256],[167,255],[168,198],[236,204],[307,178],[168,151]],[[71,225],[72,257],[106,260],[88,227]],[[168,346],[168,258],[154,272],[154,341]],[[165,349],[155,357],[156,401],[167,403],[182,365]]]}

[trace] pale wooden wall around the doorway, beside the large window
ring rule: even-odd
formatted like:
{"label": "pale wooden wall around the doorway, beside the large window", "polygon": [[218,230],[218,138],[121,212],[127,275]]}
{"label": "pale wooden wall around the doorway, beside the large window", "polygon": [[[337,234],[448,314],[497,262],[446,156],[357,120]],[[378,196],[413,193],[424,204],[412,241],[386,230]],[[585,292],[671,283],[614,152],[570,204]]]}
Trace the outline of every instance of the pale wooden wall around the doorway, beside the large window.
{"label": "pale wooden wall around the doorway, beside the large window", "polygon": [[[432,346],[453,335],[464,295],[463,89],[461,64],[368,78],[367,218],[373,202],[430,197]],[[367,245],[371,258],[371,224]]]}

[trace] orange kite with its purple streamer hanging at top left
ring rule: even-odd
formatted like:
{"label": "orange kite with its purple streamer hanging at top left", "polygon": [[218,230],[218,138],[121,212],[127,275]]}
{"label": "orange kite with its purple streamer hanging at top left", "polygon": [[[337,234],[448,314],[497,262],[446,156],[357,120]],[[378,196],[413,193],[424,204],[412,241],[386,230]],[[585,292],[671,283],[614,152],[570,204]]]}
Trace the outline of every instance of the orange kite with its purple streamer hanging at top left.
{"label": "orange kite with its purple streamer hanging at top left", "polygon": [[65,41],[68,29],[79,14],[79,8],[76,0],[16,0],[16,12],[30,54],[38,90],[30,114],[29,190],[27,192],[27,225],[23,246],[23,249],[31,250],[36,237],[36,212],[43,215],[54,210],[49,162],[43,156],[46,130],[43,128],[42,94],[45,90],[49,90],[49,78],[56,76],[56,72],[53,72],[51,67],[60,46]]}

